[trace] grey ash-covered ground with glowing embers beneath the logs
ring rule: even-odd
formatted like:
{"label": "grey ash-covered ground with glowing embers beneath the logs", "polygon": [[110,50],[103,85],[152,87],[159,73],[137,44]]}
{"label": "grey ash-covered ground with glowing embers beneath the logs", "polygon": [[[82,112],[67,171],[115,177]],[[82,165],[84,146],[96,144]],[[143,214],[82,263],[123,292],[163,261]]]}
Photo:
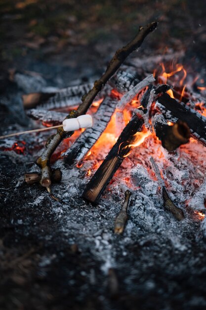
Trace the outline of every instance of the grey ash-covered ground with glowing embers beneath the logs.
{"label": "grey ash-covered ground with glowing embers beneath the logs", "polygon": [[[27,92],[56,82],[37,80]],[[22,107],[28,85],[8,83],[1,97],[2,132],[39,126]],[[171,155],[150,135],[124,159],[100,203],[92,206],[81,194],[97,159],[109,151],[106,141],[99,150],[93,147],[81,168],[63,159],[53,164],[63,172],[62,182],[52,186],[59,202],[40,185],[24,182],[25,172],[38,171],[34,161],[50,134],[0,145],[0,309],[206,309],[205,225],[188,207],[204,180],[206,149],[192,140]],[[151,155],[183,221],[163,207]],[[118,236],[114,221],[126,189],[132,192],[129,219]]]}

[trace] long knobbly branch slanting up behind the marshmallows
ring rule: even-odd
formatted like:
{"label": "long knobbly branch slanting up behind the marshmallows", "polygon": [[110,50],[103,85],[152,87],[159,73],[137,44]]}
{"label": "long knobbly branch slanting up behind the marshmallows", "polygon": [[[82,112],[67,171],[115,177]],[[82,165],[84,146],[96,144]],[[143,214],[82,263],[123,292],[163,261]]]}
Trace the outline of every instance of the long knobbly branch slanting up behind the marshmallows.
{"label": "long knobbly branch slanting up behind the marshmallows", "polygon": [[[121,64],[124,62],[126,57],[133,51],[135,51],[142,42],[144,41],[145,37],[150,33],[153,32],[157,27],[157,22],[153,22],[148,24],[146,27],[140,27],[137,36],[129,42],[126,46],[122,49],[118,50],[110,63],[107,66],[106,72],[102,75],[102,77],[94,82],[93,88],[82,97],[82,103],[78,107],[77,110],[70,111],[67,118],[74,118],[78,117],[82,114],[85,114],[88,108],[90,107],[91,103],[95,99],[96,95],[102,90],[105,86],[107,81],[115,74],[115,72],[119,69]],[[70,137],[73,132],[64,132],[63,128],[59,128],[57,130],[56,135],[51,136],[47,139],[46,147],[43,154],[38,158],[37,164],[41,167],[41,185],[46,187],[48,192],[50,192],[50,166],[49,161],[50,157],[60,144],[60,142],[65,139],[66,137]]]}

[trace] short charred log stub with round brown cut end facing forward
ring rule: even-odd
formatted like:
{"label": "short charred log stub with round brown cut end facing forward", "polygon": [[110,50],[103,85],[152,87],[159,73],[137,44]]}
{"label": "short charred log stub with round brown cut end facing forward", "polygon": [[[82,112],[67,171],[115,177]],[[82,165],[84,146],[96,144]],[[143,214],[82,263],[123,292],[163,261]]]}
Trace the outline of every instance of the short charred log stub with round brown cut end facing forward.
{"label": "short charred log stub with round brown cut end facing forward", "polygon": [[169,126],[163,114],[155,114],[152,123],[156,136],[167,151],[174,151],[180,145],[189,142],[190,128],[185,122],[178,120],[174,125]]}

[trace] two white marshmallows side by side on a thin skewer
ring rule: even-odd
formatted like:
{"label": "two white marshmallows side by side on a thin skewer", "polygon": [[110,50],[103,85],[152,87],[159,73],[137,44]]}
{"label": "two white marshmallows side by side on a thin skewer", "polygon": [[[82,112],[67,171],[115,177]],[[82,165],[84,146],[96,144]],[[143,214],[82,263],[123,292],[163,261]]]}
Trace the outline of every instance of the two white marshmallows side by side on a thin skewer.
{"label": "two white marshmallows side by side on a thin skewer", "polygon": [[93,125],[92,116],[89,114],[80,115],[77,118],[67,118],[63,121],[64,131],[74,131],[80,128],[90,128]]}

